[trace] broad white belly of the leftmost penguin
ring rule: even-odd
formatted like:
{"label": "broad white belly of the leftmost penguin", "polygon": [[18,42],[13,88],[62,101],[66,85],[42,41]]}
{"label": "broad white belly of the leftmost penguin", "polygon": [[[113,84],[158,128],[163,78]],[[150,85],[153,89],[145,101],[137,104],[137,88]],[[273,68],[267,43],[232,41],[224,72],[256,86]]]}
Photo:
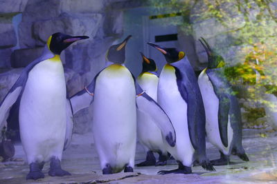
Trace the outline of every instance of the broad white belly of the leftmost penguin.
{"label": "broad white belly of the leftmost penguin", "polygon": [[19,108],[21,141],[28,163],[62,157],[66,86],[62,62],[42,61],[28,74]]}

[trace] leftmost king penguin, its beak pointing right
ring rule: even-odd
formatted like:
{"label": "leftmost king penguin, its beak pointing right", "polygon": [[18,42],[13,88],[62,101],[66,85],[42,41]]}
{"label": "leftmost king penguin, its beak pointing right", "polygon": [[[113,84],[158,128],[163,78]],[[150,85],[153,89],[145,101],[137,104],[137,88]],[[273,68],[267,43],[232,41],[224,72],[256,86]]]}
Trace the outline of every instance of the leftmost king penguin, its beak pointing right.
{"label": "leftmost king penguin, its beak pointing right", "polygon": [[26,179],[44,178],[42,168],[50,160],[50,176],[70,175],[62,170],[66,136],[66,85],[60,53],[71,43],[87,39],[57,32],[48,38],[41,57],[21,72],[0,104],[3,123],[11,106],[20,99],[19,131],[30,172]]}

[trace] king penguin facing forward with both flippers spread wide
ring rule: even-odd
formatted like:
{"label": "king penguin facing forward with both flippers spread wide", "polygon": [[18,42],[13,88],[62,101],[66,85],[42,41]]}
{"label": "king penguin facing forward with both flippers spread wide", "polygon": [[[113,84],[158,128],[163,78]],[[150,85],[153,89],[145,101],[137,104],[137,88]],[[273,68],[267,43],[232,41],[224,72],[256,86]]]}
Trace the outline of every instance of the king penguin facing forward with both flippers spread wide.
{"label": "king penguin facing forward with both flippers spread wide", "polygon": [[136,108],[152,119],[161,129],[170,146],[176,142],[175,130],[168,115],[143,92],[125,67],[125,45],[111,45],[107,50],[106,67],[84,90],[71,97],[78,111],[93,106],[93,137],[100,159],[102,174],[133,172],[136,151]]}

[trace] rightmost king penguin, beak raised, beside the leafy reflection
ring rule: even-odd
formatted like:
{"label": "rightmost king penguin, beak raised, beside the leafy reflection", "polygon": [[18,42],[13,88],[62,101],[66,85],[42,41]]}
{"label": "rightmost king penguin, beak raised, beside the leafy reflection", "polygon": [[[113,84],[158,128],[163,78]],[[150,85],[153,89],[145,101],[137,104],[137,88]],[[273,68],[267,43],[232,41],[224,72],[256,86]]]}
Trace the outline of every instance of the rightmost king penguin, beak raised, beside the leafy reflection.
{"label": "rightmost king penguin, beak raised, beside the leafy reflection", "polygon": [[208,67],[198,78],[206,111],[206,134],[208,140],[220,150],[220,159],[211,163],[229,164],[231,153],[243,161],[249,161],[242,147],[240,106],[231,85],[224,77],[224,59],[213,52],[203,38],[199,41],[208,54]]}

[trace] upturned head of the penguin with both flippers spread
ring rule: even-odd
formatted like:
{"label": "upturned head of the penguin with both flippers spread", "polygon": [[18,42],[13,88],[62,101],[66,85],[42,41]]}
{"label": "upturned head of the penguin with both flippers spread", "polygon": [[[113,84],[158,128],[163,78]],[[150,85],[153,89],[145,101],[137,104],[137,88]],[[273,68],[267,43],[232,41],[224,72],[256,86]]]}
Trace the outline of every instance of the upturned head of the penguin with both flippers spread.
{"label": "upturned head of the penguin with both flippers spread", "polygon": [[127,41],[132,37],[132,35],[129,35],[126,39],[123,40],[123,42],[111,45],[109,50],[107,51],[107,61],[111,61],[113,63],[124,63],[125,62],[125,46],[127,44]]}

